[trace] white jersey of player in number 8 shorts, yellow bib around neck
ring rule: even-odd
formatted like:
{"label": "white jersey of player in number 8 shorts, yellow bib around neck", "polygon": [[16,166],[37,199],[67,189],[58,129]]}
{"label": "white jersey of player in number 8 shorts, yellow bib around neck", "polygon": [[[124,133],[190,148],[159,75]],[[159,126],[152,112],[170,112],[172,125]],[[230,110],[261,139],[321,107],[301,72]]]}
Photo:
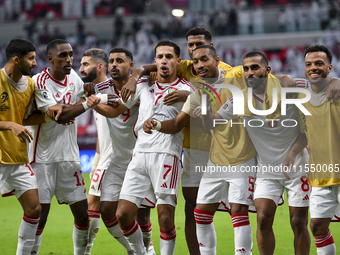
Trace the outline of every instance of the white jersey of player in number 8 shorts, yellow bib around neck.
{"label": "white jersey of player in number 8 shorts, yellow bib around neck", "polygon": [[[263,97],[255,95],[256,109],[263,110]],[[232,98],[218,110],[224,119],[235,118],[233,115]],[[226,106],[226,107],[225,107]],[[290,149],[300,133],[300,118],[295,105],[288,105],[285,116],[275,120],[267,120],[265,116],[252,114],[249,117],[242,117],[242,125],[247,132],[257,151],[259,169],[257,177],[267,178],[273,176],[283,177],[281,165],[285,161]],[[241,120],[237,125],[241,123]],[[296,157],[291,178],[305,175],[304,166],[308,164],[308,152],[303,149]]]}

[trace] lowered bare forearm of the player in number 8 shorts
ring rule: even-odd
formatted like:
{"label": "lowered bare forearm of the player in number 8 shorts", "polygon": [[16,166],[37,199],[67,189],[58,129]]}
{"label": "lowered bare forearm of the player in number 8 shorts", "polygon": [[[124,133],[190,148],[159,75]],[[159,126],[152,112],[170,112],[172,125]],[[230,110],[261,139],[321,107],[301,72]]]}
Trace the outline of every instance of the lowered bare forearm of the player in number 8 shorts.
{"label": "lowered bare forearm of the player in number 8 shorts", "polygon": [[307,146],[307,137],[304,133],[299,133],[296,138],[292,148],[290,149],[285,161],[282,164],[282,173],[287,178],[290,179],[287,170],[291,170],[294,165],[295,157]]}

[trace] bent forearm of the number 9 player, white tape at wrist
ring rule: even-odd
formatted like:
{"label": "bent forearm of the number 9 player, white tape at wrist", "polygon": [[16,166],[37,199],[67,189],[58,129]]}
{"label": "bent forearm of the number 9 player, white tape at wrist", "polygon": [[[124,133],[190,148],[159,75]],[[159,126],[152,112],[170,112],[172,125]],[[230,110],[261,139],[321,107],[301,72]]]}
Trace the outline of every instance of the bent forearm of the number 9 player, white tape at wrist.
{"label": "bent forearm of the number 9 player, white tape at wrist", "polygon": [[107,118],[116,118],[129,109],[123,105],[120,100],[117,102],[118,106],[116,107],[113,107],[109,104],[101,104],[100,101],[101,98],[92,95],[87,99],[87,106],[96,110],[99,114]]}

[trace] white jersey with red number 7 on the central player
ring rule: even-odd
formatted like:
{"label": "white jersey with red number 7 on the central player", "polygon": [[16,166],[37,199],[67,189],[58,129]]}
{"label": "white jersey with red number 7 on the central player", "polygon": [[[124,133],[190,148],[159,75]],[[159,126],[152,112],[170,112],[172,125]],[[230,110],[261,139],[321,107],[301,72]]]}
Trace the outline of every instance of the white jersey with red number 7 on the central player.
{"label": "white jersey with red number 7 on the central player", "polygon": [[176,134],[164,134],[156,130],[152,134],[147,134],[143,130],[144,122],[151,118],[160,122],[171,120],[181,111],[184,102],[178,102],[172,105],[163,104],[164,96],[175,90],[193,90],[194,86],[184,80],[178,78],[172,83],[155,82],[149,87],[147,81],[140,82],[137,85],[134,99],[130,99],[124,103],[127,108],[131,108],[140,101],[139,116],[135,127],[137,134],[137,142],[134,149],[135,152],[156,152],[168,153],[177,157],[181,157],[184,135],[182,132]]}

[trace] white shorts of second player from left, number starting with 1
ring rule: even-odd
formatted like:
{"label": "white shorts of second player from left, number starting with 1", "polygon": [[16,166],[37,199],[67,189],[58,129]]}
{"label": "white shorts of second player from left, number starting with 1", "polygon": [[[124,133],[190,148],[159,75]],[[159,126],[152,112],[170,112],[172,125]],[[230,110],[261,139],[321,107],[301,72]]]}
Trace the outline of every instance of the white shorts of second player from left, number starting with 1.
{"label": "white shorts of second player from left, number starting with 1", "polygon": [[74,204],[87,199],[79,162],[33,163],[39,187],[39,201],[50,204],[55,195],[59,204]]}

